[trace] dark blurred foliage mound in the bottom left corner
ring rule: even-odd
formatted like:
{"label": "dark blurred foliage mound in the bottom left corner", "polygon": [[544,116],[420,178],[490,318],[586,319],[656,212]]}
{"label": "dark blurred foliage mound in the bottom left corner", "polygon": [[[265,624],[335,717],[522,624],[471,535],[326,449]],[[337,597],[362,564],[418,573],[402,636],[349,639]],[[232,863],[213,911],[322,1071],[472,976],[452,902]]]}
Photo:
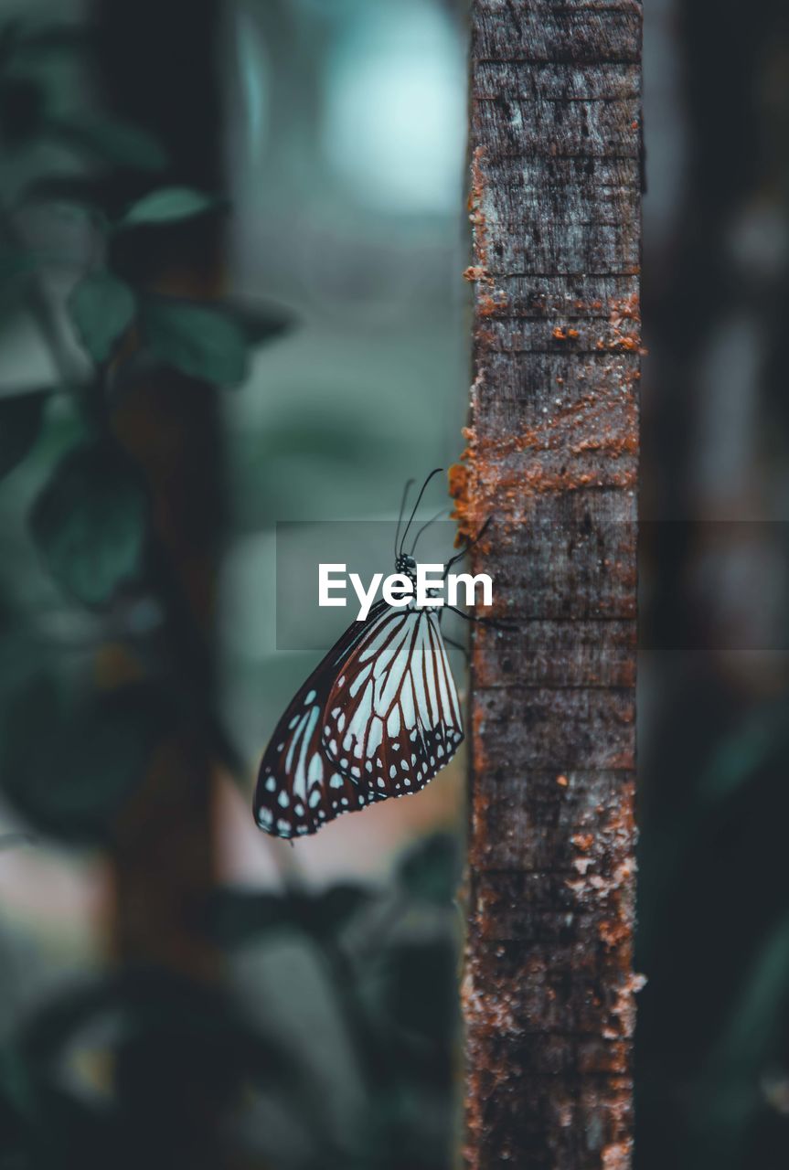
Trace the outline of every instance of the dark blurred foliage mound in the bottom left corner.
{"label": "dark blurred foliage mound in the bottom left corner", "polygon": [[[101,1095],[84,1073],[91,1058],[114,1071]],[[217,1137],[211,1119],[220,1112],[228,1123],[242,1094],[290,1068],[287,1051],[228,996],[156,968],[60,990],[26,1021],[6,1064],[4,1170],[174,1165],[171,1151],[191,1145],[190,1164],[219,1164],[203,1144]],[[205,1117],[194,1115],[195,1090]]]}

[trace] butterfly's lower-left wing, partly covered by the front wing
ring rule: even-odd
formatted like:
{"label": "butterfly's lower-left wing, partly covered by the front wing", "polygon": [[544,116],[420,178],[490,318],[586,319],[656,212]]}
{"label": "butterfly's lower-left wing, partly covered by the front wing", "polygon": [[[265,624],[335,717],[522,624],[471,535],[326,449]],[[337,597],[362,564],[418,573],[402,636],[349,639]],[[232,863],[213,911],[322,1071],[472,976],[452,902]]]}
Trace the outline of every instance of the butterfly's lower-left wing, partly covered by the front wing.
{"label": "butterfly's lower-left wing, partly covered by the front wing", "polygon": [[282,838],[315,833],[339,813],[375,799],[324,751],[323,711],[344,661],[387,608],[378,601],[365,621],[349,626],[277,723],[260,764],[253,806],[258,825],[267,833]]}

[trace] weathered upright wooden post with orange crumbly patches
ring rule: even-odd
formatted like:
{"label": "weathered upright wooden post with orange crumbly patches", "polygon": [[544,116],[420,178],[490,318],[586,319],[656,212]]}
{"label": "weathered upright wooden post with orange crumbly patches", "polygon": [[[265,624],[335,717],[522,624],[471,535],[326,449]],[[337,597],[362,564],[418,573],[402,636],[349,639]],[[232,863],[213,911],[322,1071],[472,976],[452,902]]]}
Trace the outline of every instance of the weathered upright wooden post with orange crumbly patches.
{"label": "weathered upright wooden post with orange crumbly patches", "polygon": [[472,5],[467,1162],[631,1165],[640,5]]}

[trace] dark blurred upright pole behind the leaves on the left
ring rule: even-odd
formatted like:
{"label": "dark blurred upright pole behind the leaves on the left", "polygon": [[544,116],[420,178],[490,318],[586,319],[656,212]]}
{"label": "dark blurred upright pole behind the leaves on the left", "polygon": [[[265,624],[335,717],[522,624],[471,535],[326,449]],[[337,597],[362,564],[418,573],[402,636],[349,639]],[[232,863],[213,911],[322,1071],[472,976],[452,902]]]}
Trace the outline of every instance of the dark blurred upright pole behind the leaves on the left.
{"label": "dark blurred upright pole behind the leaves on the left", "polygon": [[[109,104],[144,126],[171,159],[164,174],[118,176],[118,194],[171,184],[224,187],[218,85],[219,0],[96,0],[98,63]],[[135,283],[187,297],[217,296],[222,278],[220,221],[201,216],[143,230],[114,245],[114,267]],[[192,1000],[190,980],[214,987],[219,961],[201,927],[214,885],[211,718],[215,703],[215,591],[224,519],[219,392],[173,370],[140,374],[112,415],[116,435],[142,468],[152,503],[149,587],[162,625],[145,662],[180,710],[147,776],[117,825],[114,950],[129,972],[159,972],[144,991],[150,1031],[115,1069],[129,1148],[123,1164],[218,1170],[220,1126],[234,1066],[218,1052],[211,1006],[194,1000],[185,1024],[173,1009]],[[176,977],[179,989],[163,976]],[[151,996],[163,994],[163,1003]],[[210,992],[208,992],[210,994]],[[214,1000],[207,1000],[213,1005]],[[158,1014],[157,1014],[158,1012]]]}

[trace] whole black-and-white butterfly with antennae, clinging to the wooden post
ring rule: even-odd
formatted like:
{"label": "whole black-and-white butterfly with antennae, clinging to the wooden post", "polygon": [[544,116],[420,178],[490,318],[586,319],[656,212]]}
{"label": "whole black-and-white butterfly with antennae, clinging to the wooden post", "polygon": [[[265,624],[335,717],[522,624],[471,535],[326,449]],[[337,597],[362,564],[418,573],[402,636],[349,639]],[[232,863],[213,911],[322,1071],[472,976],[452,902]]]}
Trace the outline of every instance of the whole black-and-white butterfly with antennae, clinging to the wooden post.
{"label": "whole black-and-white butterfly with antennae, clinging to the wooden post", "polygon": [[[405,538],[440,470],[425,480],[402,541],[400,509],[394,571],[414,590],[416,541],[407,553]],[[260,764],[255,821],[286,839],[316,833],[341,813],[418,792],[450,763],[462,738],[435,607],[418,607],[416,592],[405,607],[377,601],[331,647],[277,723]]]}

